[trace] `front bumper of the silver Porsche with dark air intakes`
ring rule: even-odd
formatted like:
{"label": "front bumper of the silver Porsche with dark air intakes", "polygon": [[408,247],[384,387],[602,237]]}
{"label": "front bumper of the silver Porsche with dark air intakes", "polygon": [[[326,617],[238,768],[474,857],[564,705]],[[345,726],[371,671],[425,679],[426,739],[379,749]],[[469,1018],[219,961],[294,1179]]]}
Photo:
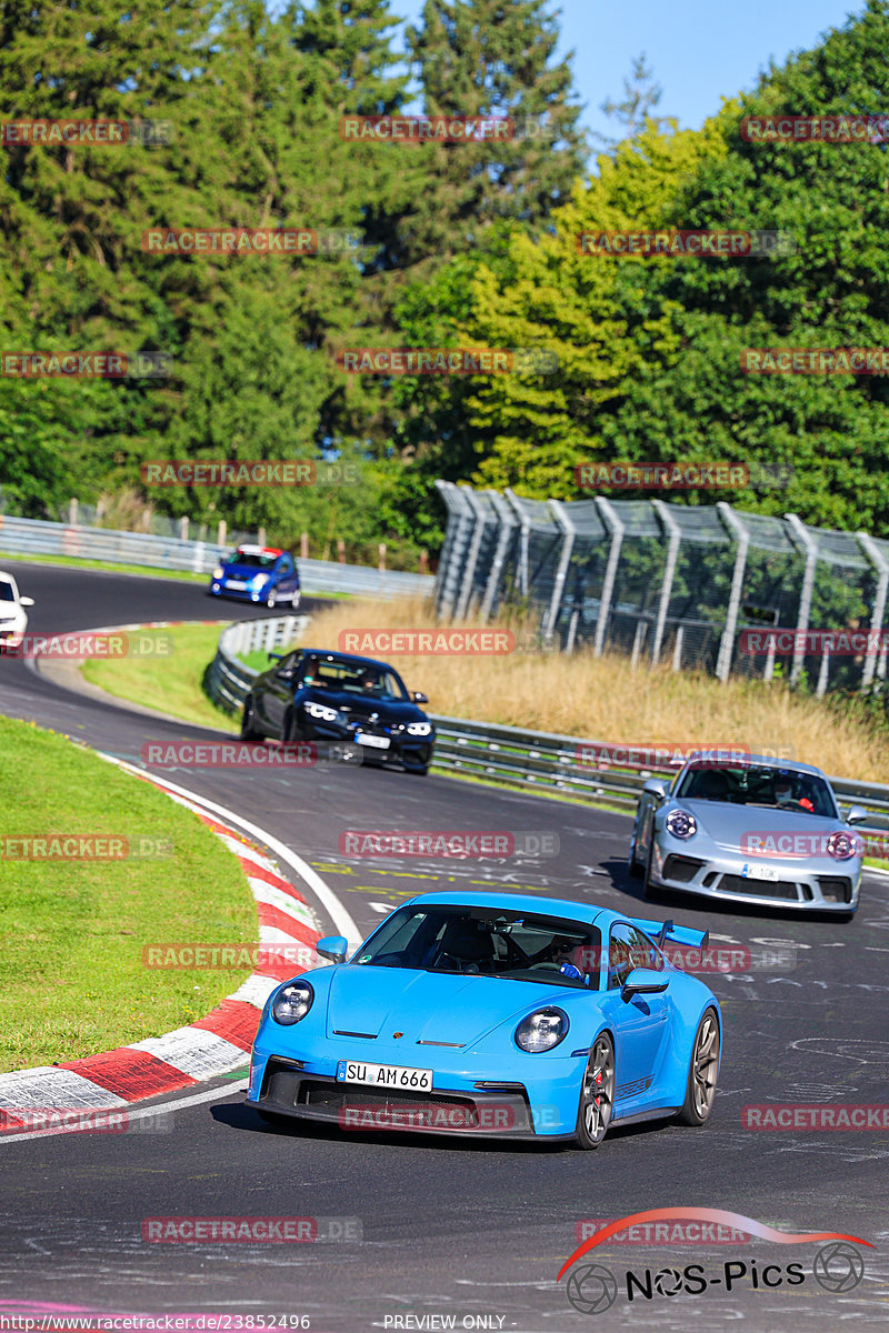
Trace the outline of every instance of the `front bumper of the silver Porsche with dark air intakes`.
{"label": "front bumper of the silver Porsche with dark air intakes", "polygon": [[[800,912],[848,913],[858,905],[861,857],[756,858],[722,849],[714,853],[712,844],[696,854],[693,842],[680,844],[669,834],[656,838],[649,876],[656,888]],[[777,880],[758,878],[758,870]]]}

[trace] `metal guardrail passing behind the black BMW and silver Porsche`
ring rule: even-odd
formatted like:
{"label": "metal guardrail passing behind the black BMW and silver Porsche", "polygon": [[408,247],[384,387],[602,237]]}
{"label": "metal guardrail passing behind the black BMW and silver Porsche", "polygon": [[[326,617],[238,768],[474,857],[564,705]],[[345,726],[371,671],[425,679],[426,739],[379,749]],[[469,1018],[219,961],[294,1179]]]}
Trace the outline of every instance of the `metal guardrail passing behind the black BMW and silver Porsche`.
{"label": "metal guardrail passing behind the black BMW and silver Porsche", "polygon": [[[228,712],[239,712],[251,682],[259,674],[239,657],[256,651],[288,648],[307,624],[307,616],[276,616],[241,621],[224,629],[207,677],[216,702]],[[472,722],[436,713],[429,716],[439,733],[432,768],[445,773],[473,774],[525,790],[612,805],[628,813],[634,812],[646,778],[676,773],[674,766],[629,764],[597,769],[578,758],[582,748],[601,752],[613,749],[613,742]],[[868,810],[870,817],[861,832],[885,833],[889,829],[889,786],[854,782],[845,777],[832,777],[830,784],[840,801],[864,805]]]}

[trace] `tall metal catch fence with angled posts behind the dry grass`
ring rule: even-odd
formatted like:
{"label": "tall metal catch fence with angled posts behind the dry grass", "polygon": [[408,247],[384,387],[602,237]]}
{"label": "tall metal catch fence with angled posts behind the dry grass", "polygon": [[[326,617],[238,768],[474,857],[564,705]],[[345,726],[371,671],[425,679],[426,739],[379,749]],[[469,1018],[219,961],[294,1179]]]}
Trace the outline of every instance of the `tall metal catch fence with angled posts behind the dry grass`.
{"label": "tall metal catch fence with angled posts behind the dry grass", "polygon": [[805,682],[886,676],[889,541],[796,515],[662,500],[525,500],[437,481],[443,620],[524,608],[546,645]]}

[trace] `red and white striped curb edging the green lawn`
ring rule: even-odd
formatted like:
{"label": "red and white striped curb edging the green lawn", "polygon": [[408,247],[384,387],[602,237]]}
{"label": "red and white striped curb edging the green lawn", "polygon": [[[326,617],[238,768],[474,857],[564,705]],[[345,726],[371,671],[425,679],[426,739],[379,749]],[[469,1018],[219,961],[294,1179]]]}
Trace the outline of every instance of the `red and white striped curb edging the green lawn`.
{"label": "red and white striped curb edging the green lawn", "polygon": [[[0,1112],[5,1112],[3,1120],[7,1124],[15,1120],[16,1112],[52,1108],[112,1110],[231,1073],[245,1064],[259,1026],[260,1010],[275,986],[321,961],[315,953],[320,932],[312,909],[299,889],[281,876],[259,848],[227,824],[224,817],[216,818],[196,800],[191,800],[181,788],[129,764],[120,766],[191,809],[237,856],[256,900],[260,945],[287,945],[291,950],[305,950],[307,966],[291,962],[263,964],[204,1018],[161,1037],[148,1037],[83,1060],[0,1074]],[[323,888],[327,889],[325,885]],[[27,1114],[23,1118],[27,1122]]]}

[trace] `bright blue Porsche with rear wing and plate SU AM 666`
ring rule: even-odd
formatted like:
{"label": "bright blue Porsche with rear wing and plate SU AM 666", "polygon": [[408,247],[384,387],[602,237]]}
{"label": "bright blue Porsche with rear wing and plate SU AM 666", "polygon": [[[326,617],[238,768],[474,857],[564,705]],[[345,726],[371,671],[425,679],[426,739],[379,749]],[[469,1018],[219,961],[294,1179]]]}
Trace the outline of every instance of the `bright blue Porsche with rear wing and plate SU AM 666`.
{"label": "bright blue Porsche with rear wing and plate SU AM 666", "polygon": [[248,1104],[264,1118],[573,1140],[612,1124],[702,1125],[720,1006],[661,953],[706,932],[558,898],[429,893],[347,961],[269,994]]}

